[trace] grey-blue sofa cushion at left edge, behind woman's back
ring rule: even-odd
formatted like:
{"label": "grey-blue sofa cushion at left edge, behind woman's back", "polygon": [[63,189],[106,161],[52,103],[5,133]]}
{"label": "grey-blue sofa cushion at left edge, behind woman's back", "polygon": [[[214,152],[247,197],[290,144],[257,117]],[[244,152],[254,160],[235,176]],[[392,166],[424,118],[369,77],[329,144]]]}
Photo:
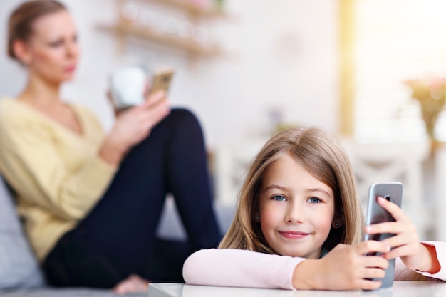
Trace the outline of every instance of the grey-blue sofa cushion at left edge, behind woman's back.
{"label": "grey-blue sofa cushion at left edge, behind woman's back", "polygon": [[44,286],[8,188],[0,176],[0,288]]}

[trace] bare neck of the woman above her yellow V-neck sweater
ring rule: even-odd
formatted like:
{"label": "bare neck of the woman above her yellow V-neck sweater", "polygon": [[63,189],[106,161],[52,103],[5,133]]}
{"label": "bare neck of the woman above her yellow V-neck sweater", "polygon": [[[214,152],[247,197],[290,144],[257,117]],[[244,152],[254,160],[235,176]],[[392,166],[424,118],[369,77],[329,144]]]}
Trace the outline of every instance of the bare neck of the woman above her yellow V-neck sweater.
{"label": "bare neck of the woman above her yellow V-neck sweater", "polygon": [[50,108],[62,103],[60,83],[50,83],[40,78],[29,78],[18,99],[39,108]]}

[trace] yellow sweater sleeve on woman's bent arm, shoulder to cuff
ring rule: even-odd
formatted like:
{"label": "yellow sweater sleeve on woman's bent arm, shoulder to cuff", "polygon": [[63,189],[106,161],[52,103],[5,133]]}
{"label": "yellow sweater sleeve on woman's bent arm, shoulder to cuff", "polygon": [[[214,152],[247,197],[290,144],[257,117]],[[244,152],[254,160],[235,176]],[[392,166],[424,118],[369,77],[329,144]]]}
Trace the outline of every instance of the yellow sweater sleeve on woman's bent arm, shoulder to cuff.
{"label": "yellow sweater sleeve on woman's bent arm, shoulder to cuff", "polygon": [[98,202],[115,168],[98,152],[85,154],[68,170],[56,150],[51,128],[33,125],[24,115],[0,115],[1,170],[17,194],[58,217],[81,219]]}

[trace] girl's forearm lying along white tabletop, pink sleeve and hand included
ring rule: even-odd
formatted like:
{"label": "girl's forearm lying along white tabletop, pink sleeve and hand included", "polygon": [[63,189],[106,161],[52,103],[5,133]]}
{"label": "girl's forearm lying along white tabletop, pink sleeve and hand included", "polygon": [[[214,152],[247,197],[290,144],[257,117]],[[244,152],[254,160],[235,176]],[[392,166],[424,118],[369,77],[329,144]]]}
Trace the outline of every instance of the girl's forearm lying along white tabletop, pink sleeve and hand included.
{"label": "girl's forearm lying along white tabletop, pink sleeve and hand included", "polygon": [[192,254],[183,266],[186,283],[251,288],[353,290],[374,289],[387,262],[370,251],[388,251],[379,241],[353,246],[340,244],[322,259],[263,254],[242,249],[205,249]]}

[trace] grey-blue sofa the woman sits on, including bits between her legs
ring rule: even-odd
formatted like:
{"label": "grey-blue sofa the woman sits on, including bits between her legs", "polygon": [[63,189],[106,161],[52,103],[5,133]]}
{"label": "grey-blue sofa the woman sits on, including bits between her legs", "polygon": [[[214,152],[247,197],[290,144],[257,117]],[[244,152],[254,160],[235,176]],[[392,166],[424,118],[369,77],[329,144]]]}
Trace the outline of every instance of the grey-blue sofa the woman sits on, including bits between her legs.
{"label": "grey-blue sofa the woman sits on, including bits between her legs", "polygon": [[[216,207],[222,231],[232,222],[232,207]],[[186,234],[177,216],[175,204],[167,199],[160,228],[157,232],[162,239],[185,240]],[[29,246],[14,208],[14,202],[4,180],[0,176],[0,295],[1,296],[118,296],[109,290],[93,288],[51,288],[45,282],[36,257]],[[147,296],[147,293],[128,294]]]}

